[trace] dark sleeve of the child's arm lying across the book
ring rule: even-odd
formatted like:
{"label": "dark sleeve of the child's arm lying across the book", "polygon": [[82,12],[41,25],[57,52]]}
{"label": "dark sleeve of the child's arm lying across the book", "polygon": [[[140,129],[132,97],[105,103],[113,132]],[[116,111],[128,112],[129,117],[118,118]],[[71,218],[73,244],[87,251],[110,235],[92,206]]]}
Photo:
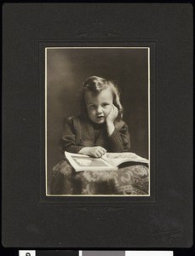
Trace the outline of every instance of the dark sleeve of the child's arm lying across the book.
{"label": "dark sleeve of the child's arm lying across the book", "polygon": [[60,151],[64,154],[65,151],[78,153],[83,146],[76,142],[76,131],[74,129],[72,118],[67,119],[64,126],[64,131],[60,137]]}

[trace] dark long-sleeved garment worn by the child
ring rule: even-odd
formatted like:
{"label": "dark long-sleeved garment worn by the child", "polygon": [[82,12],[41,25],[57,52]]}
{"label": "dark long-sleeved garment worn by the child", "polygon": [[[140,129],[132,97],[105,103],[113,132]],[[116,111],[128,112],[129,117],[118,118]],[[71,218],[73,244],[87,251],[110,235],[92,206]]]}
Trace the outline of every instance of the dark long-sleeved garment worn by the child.
{"label": "dark long-sleeved garment worn by the child", "polygon": [[115,122],[115,130],[108,136],[106,124],[97,125],[82,116],[67,119],[60,138],[60,150],[78,153],[83,147],[101,146],[109,152],[126,152],[130,148],[128,125]]}

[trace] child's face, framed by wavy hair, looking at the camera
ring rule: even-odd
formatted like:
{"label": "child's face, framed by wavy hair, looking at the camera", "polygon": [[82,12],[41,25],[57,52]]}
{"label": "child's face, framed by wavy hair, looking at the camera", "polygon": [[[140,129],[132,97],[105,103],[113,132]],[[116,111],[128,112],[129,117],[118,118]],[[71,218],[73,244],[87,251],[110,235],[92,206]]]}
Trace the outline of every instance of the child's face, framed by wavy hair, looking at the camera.
{"label": "child's face, framed by wavy hair, looking at the camera", "polygon": [[95,124],[103,124],[106,121],[108,113],[110,113],[113,96],[109,88],[101,90],[98,95],[87,90],[84,93],[84,99],[88,110],[89,119]]}

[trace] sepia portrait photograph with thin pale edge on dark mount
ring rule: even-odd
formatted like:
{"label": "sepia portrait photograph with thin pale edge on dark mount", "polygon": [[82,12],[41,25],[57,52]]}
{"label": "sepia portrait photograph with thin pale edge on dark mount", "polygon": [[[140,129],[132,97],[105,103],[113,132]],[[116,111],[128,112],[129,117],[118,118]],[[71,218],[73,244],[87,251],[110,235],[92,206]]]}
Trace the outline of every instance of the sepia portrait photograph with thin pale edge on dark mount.
{"label": "sepia portrait photograph with thin pale edge on dark mount", "polygon": [[46,195],[150,195],[150,48],[45,49]]}

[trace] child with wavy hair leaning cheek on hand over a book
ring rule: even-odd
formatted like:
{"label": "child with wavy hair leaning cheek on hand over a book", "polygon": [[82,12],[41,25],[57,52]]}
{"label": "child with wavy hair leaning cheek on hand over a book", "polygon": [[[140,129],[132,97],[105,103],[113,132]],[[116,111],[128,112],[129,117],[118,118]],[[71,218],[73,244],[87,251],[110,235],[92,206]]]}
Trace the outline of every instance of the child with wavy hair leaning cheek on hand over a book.
{"label": "child with wavy hair leaning cheek on hand over a book", "polygon": [[130,148],[128,125],[123,120],[118,88],[97,76],[83,82],[81,114],[67,120],[60,150],[101,157],[106,151]]}

